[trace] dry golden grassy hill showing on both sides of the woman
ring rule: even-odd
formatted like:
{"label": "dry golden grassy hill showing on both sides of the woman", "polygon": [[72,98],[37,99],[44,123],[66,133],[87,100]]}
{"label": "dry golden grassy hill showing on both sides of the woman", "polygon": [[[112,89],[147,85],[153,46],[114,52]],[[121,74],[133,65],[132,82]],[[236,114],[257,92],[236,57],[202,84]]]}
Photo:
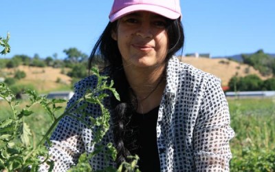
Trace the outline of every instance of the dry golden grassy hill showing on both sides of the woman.
{"label": "dry golden grassy hill showing on both sides of the woman", "polygon": [[[259,71],[249,65],[229,61],[227,58],[181,57],[180,59],[184,63],[193,65],[204,72],[208,72],[221,78],[223,86],[228,85],[230,78],[236,74],[238,74],[238,76],[256,74],[262,79],[269,78],[263,77]],[[5,75],[8,77],[13,77],[13,74],[17,69],[24,71],[26,74],[26,77],[19,80],[19,83],[32,84],[39,92],[69,89],[72,80],[72,78],[66,74],[61,74],[62,69],[56,69],[53,67],[29,67],[21,65],[14,69],[1,69],[1,72],[5,72]],[[66,73],[68,69],[65,70]],[[57,83],[57,80],[60,82]]]}

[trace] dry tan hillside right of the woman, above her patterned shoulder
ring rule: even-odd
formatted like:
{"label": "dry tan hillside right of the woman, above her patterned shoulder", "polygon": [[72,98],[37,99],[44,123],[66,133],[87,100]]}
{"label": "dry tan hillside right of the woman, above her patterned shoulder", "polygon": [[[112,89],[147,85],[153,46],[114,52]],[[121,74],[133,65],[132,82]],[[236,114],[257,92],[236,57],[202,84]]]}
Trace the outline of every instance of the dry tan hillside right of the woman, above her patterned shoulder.
{"label": "dry tan hillside right of the woman, above her patterned shoulder", "polygon": [[228,85],[230,78],[238,74],[238,76],[246,76],[248,74],[256,74],[260,78],[267,79],[270,77],[264,77],[258,70],[245,64],[237,63],[236,61],[229,61],[227,58],[195,58],[195,57],[181,57],[181,61],[188,63],[221,78],[223,86]]}

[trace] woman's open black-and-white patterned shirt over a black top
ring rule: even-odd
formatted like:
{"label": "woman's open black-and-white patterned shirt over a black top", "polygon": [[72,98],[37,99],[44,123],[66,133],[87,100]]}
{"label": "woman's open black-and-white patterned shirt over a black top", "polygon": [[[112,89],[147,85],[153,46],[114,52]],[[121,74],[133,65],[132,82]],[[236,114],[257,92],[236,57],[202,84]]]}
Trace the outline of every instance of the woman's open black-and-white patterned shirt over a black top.
{"label": "woman's open black-and-white patterned shirt over a black top", "polygon": [[[85,94],[85,88],[96,87],[96,76],[89,76],[75,85],[70,107]],[[78,107],[83,103],[79,103]],[[110,100],[104,102],[110,107]],[[72,110],[76,110],[77,106]],[[85,113],[100,116],[100,107],[89,104]],[[111,115],[113,114],[110,109]],[[81,116],[81,113],[74,114]],[[88,118],[87,118],[87,121]],[[102,139],[113,142],[112,122]],[[228,103],[219,78],[202,72],[173,57],[166,68],[166,87],[157,117],[157,147],[161,171],[229,171],[232,158],[229,141],[234,136],[230,127]],[[83,122],[65,116],[50,138],[54,171],[67,171],[77,164],[79,156],[94,151],[94,135]],[[106,160],[104,151],[89,160],[93,170],[115,166]],[[47,171],[41,165],[40,171]]]}

